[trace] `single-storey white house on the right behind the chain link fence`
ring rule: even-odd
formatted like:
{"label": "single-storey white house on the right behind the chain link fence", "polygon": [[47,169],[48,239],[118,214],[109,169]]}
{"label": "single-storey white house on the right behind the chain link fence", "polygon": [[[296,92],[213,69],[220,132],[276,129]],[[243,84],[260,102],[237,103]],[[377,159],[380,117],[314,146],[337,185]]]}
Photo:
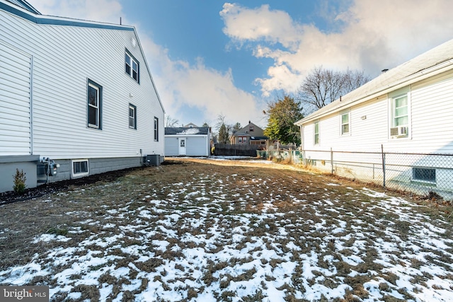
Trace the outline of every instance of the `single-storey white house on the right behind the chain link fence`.
{"label": "single-storey white house on the right behind the chain link fence", "polygon": [[[382,73],[295,124],[301,129],[304,158],[317,168],[330,171],[335,167],[329,166],[331,155],[325,151],[331,149],[453,153],[452,113],[453,40],[450,40]],[[336,160],[347,162],[352,156],[357,154],[338,153]],[[370,155],[363,156],[363,162],[371,162]],[[379,161],[382,163],[378,156]],[[391,181],[406,185],[422,182],[439,191],[452,191],[451,157],[444,157],[442,163],[435,165],[428,164],[427,158],[410,161],[408,156],[402,156],[391,163],[396,170],[398,165],[409,167],[397,170]],[[359,173],[358,169],[351,166],[345,172]],[[367,173],[371,175],[374,171],[379,173],[379,169]]]}

